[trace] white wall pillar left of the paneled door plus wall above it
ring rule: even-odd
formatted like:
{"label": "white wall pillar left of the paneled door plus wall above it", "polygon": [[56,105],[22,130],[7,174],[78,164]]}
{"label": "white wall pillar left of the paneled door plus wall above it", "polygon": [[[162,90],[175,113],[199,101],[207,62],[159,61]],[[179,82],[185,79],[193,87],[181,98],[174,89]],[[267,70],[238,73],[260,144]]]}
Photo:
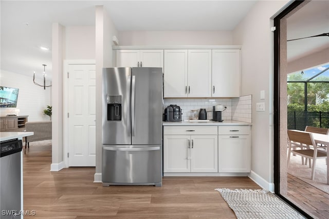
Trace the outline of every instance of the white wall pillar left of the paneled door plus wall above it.
{"label": "white wall pillar left of the paneled door plus wall above it", "polygon": [[[64,123],[63,123],[63,61],[95,59],[95,26],[67,26],[53,24],[53,112],[52,171],[59,171],[64,165]],[[55,137],[56,136],[56,137]]]}

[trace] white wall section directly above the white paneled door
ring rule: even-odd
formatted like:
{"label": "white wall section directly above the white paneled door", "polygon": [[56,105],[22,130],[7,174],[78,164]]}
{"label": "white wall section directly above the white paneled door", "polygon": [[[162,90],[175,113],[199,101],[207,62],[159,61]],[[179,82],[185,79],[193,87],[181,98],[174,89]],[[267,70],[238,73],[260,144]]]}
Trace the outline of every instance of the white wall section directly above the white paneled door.
{"label": "white wall section directly above the white paneled door", "polygon": [[65,27],[65,59],[95,59],[95,25]]}

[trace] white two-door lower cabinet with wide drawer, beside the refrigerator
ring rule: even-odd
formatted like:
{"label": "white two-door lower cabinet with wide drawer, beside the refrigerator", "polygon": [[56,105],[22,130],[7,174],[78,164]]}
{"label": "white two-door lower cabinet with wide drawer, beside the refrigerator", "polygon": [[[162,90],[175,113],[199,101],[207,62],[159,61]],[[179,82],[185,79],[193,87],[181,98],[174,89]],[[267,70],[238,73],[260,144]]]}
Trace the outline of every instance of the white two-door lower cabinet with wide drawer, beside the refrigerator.
{"label": "white two-door lower cabinet with wide drawer, beside the refrigerator", "polygon": [[[207,130],[209,135],[181,135]],[[165,126],[163,134],[163,172],[218,172],[217,127]]]}

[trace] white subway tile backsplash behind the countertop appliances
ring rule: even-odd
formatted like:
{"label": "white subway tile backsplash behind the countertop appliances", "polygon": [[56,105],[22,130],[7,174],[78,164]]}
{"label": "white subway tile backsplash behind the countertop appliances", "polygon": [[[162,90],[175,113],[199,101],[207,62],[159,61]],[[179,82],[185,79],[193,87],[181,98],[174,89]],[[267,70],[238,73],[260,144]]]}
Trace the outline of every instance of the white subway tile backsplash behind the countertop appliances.
{"label": "white subway tile backsplash behind the countertop appliances", "polygon": [[203,99],[203,98],[165,98],[164,108],[170,104],[176,104],[180,106],[182,111],[182,120],[187,120],[192,117],[192,109],[205,108],[207,111],[207,119],[212,119],[212,106],[222,104],[226,106],[226,110],[222,112],[223,120],[236,120],[243,122],[251,122],[251,105],[252,96],[243,96],[240,98],[213,98],[213,99]]}

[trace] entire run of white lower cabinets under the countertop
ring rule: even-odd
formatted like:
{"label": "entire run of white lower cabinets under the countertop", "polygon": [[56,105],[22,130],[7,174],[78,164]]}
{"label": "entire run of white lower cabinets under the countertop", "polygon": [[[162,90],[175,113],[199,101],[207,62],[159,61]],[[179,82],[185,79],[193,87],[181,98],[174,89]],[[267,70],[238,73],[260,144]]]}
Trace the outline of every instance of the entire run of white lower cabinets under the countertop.
{"label": "entire run of white lower cabinets under the countertop", "polygon": [[163,173],[247,174],[250,145],[249,125],[163,126]]}

